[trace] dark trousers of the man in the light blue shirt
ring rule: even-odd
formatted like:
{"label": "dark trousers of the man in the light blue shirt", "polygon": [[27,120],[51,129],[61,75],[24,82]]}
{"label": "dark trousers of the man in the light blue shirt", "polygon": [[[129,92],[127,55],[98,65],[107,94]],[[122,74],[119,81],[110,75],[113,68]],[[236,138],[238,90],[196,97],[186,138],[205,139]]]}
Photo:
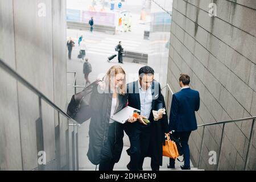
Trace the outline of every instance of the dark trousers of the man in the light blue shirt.
{"label": "dark trousers of the man in the light blue shirt", "polygon": [[[150,152],[151,125],[144,126],[139,122],[125,123],[124,129],[130,140],[130,148],[127,150],[130,155],[130,170],[143,170],[144,158]],[[154,157],[151,158],[151,169],[159,170],[159,164],[155,162]]]}

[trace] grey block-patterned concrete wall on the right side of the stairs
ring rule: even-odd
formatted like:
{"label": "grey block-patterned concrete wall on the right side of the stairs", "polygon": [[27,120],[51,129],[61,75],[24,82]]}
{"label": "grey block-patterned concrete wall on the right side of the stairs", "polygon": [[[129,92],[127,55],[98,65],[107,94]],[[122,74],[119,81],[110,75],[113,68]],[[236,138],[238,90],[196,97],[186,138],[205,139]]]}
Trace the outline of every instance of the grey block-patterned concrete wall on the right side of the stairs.
{"label": "grey block-patterned concrete wall on the right side of the stairs", "polygon": [[[209,3],[216,3],[217,16],[210,17]],[[256,1],[174,0],[167,82],[179,91],[180,73],[191,76],[199,90],[201,106],[197,123],[210,123],[256,115]],[[220,169],[239,170],[245,165],[251,121],[225,126]],[[210,165],[209,151],[220,145],[222,126],[205,129],[200,168]],[[254,128],[255,130],[255,128]],[[192,162],[197,166],[203,130],[192,133]],[[253,138],[249,169],[256,169]]]}

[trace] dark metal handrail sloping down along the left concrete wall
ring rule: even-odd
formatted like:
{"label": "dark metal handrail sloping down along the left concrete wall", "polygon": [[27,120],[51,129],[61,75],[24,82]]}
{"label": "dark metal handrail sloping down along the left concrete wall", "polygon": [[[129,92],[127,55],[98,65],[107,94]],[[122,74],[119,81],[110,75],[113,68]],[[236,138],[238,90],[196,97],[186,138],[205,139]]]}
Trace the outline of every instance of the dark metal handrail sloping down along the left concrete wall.
{"label": "dark metal handrail sloping down along the left concrete wall", "polygon": [[13,76],[16,80],[18,80],[20,83],[22,83],[26,88],[30,89],[32,92],[34,92],[39,98],[42,98],[42,100],[46,101],[50,106],[52,106],[55,110],[59,111],[61,114],[64,115],[64,117],[68,118],[73,123],[76,123],[76,125],[80,126],[79,123],[77,123],[74,119],[69,117],[68,114],[66,114],[63,110],[60,109],[57,105],[55,105],[51,100],[49,100],[42,92],[40,92],[38,89],[36,89],[33,85],[31,85],[27,80],[25,80],[22,76],[20,76],[16,71],[14,71],[13,68],[9,67],[5,62],[3,62],[0,59],[0,67],[9,73],[9,75]]}

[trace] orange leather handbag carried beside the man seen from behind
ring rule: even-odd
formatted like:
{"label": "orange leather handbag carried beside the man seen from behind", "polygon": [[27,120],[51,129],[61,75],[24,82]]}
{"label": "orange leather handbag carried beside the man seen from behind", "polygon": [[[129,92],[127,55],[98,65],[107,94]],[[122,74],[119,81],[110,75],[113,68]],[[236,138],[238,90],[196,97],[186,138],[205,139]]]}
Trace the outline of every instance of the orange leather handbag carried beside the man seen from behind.
{"label": "orange leather handbag carried beside the man seen from behind", "polygon": [[177,146],[174,141],[170,139],[170,135],[166,134],[166,143],[163,145],[163,156],[168,158],[177,159],[179,152],[177,151]]}

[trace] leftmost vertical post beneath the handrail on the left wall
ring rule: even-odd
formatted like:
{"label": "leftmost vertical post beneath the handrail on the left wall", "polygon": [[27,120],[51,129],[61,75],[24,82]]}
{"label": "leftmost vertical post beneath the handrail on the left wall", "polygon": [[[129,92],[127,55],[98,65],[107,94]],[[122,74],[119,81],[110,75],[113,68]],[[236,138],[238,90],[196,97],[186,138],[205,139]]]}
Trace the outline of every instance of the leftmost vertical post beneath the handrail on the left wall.
{"label": "leftmost vertical post beneath the handrail on the left wall", "polygon": [[[36,146],[37,146],[37,159],[38,159],[38,169],[39,171],[44,170],[44,163],[39,161],[39,158],[42,158],[42,153],[44,153],[44,134],[43,134],[43,119],[42,119],[42,97],[38,97],[38,105],[39,105],[39,118],[36,119]],[[45,158],[43,157],[43,160]],[[40,162],[40,163],[39,163]],[[44,161],[43,161],[44,162]]]}

